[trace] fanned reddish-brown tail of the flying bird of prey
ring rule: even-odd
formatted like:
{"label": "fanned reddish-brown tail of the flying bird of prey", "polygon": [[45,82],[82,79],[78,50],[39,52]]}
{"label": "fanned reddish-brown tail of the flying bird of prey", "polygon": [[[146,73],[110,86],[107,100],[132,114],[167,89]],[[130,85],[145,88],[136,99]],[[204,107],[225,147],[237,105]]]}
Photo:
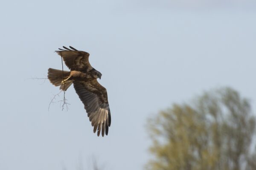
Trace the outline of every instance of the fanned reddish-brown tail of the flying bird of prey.
{"label": "fanned reddish-brown tail of the flying bird of prey", "polygon": [[[64,76],[64,77],[63,77]],[[48,69],[48,79],[55,86],[61,86],[60,90],[66,91],[67,88],[72,85],[73,80],[68,80],[65,84],[62,84],[62,80],[67,79],[70,76],[70,71],[57,70],[53,68]]]}

